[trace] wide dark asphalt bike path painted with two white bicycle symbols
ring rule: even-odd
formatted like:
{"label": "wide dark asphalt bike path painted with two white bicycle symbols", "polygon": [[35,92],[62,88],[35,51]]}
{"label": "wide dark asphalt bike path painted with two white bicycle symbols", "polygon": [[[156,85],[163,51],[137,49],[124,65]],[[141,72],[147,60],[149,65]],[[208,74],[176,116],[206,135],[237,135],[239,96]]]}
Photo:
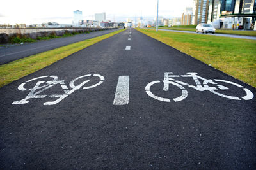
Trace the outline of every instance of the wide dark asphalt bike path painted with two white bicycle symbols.
{"label": "wide dark asphalt bike path painted with two white bicycle symbols", "polygon": [[256,168],[256,89],[129,31],[0,89],[0,169]]}

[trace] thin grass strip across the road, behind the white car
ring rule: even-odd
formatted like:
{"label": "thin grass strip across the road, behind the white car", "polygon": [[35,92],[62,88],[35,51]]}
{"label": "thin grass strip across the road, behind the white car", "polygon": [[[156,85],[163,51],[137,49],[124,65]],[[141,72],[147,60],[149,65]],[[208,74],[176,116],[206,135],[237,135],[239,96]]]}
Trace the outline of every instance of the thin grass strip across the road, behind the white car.
{"label": "thin grass strip across the road, behind the white car", "polygon": [[[180,30],[180,31],[193,31],[196,32],[196,29],[193,27],[159,27],[159,29],[171,29],[171,30]],[[225,29],[216,29],[215,31],[218,34],[234,34],[241,36],[256,36],[256,31],[241,31],[241,30],[225,30]]]}

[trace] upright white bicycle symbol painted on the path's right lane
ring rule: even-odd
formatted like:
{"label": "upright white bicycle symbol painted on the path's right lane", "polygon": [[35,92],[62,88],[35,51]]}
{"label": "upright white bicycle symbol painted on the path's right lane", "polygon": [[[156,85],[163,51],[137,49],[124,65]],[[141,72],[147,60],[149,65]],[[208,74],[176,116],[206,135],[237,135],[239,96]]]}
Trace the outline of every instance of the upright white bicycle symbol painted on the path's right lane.
{"label": "upright white bicycle symbol painted on the path's right lane", "polygon": [[[182,94],[179,97],[175,97],[173,98],[173,101],[178,102],[178,101],[182,101],[184,99],[186,99],[186,97],[188,97],[188,91],[185,89],[185,87],[183,85],[187,85],[188,87],[191,87],[195,90],[198,90],[200,92],[204,91],[204,90],[209,90],[210,92],[212,92],[213,94],[216,94],[218,96],[221,97],[225,97],[227,99],[233,99],[233,100],[250,100],[253,99],[253,93],[248,90],[247,88],[243,87],[242,85],[239,85],[237,83],[234,83],[232,81],[227,81],[227,80],[220,80],[220,79],[206,79],[206,78],[202,78],[201,76],[198,76],[197,73],[194,72],[189,72],[186,75],[181,75],[181,77],[191,77],[193,78],[193,80],[195,81],[196,85],[189,85],[188,83],[184,83],[182,81],[179,80],[175,80],[174,78],[180,77],[178,75],[173,75],[172,72],[166,72],[164,73],[164,87],[163,90],[164,91],[168,91],[169,90],[169,86],[170,85],[175,85],[177,87],[179,87],[180,90],[182,90]],[[203,84],[200,83],[199,80],[203,81]],[[151,91],[150,91],[150,87],[152,87],[152,85],[156,84],[156,83],[160,83],[161,81],[152,81],[150,83],[147,84],[147,86],[145,87],[145,90],[148,94],[148,96],[157,99],[159,101],[164,101],[164,102],[170,102],[171,100],[168,98],[164,98],[164,97],[159,97],[154,95]],[[228,90],[228,87],[225,87],[223,85],[220,85],[216,82],[223,82],[223,83],[228,83],[230,85],[235,85],[236,87],[242,88],[244,90],[244,92],[246,92],[246,95],[243,97],[237,97],[237,96],[228,96],[226,94],[221,94],[220,92],[217,92],[217,90]],[[215,85],[216,87],[209,87],[209,84],[211,85]]]}

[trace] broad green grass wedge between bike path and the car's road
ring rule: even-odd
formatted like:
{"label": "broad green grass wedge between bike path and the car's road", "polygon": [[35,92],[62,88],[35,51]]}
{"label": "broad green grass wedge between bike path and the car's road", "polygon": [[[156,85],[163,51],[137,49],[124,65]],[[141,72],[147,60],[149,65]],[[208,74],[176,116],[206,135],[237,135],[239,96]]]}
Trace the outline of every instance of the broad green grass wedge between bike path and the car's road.
{"label": "broad green grass wedge between bike path and the car's road", "polygon": [[256,41],[250,39],[137,29],[166,45],[256,87]]}

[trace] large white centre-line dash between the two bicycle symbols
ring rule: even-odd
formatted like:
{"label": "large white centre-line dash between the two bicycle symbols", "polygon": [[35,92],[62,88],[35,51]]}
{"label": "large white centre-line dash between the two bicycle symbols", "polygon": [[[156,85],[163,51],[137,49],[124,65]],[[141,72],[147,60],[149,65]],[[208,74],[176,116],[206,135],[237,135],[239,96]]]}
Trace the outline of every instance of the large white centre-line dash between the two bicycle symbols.
{"label": "large white centre-line dash between the two bicycle symbols", "polygon": [[129,103],[129,76],[119,76],[113,104],[125,105]]}

